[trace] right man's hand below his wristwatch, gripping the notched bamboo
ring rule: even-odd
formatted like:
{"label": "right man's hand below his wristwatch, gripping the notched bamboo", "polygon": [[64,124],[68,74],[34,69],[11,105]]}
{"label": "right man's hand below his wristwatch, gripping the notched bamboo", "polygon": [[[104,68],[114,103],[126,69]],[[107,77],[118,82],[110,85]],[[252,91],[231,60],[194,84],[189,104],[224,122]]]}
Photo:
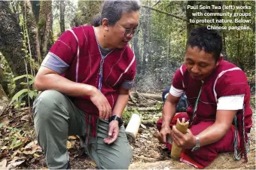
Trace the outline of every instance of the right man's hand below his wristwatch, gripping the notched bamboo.
{"label": "right man's hand below his wristwatch, gripping the notched bamboo", "polygon": [[187,133],[183,134],[176,129],[176,126],[172,126],[172,141],[183,149],[191,149],[197,144],[196,137],[190,129],[187,129]]}

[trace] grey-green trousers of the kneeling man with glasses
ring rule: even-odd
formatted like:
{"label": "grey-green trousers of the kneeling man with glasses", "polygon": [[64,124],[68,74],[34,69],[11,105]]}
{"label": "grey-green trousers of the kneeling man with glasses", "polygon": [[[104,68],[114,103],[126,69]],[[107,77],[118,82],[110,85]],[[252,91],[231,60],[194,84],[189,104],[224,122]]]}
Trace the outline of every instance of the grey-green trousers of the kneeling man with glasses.
{"label": "grey-green trousers of the kneeling man with glasses", "polygon": [[[41,93],[35,99],[33,111],[38,144],[44,150],[48,168],[67,168],[68,136],[87,136],[84,112],[78,109],[67,96],[55,90],[46,90]],[[127,140],[125,129],[123,126],[120,127],[114,144],[105,144],[103,138],[108,137],[108,126],[107,121],[98,120],[96,138],[89,135],[89,144],[84,143],[86,153],[99,168],[128,168],[133,150]]]}

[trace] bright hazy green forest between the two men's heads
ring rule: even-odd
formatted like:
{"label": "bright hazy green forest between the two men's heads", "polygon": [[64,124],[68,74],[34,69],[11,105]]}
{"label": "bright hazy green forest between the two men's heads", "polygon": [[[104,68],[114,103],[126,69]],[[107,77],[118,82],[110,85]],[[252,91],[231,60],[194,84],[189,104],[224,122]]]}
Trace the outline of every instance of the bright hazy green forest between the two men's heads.
{"label": "bright hazy green forest between the two men's heads", "polygon": [[[153,2],[143,1],[151,7]],[[162,1],[160,11],[185,18],[184,2]],[[141,92],[158,92],[170,86],[172,75],[184,60],[186,22],[148,8],[141,9],[136,87]],[[134,41],[133,41],[134,42]],[[132,42],[132,43],[133,43]],[[157,87],[157,88],[156,88]]]}

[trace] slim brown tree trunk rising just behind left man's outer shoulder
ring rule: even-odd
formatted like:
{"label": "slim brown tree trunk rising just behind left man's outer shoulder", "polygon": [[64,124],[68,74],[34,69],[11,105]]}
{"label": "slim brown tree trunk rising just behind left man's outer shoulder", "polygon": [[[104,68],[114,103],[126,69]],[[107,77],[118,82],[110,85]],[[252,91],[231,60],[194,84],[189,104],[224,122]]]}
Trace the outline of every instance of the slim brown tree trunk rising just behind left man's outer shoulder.
{"label": "slim brown tree trunk rising just behind left man's outer shoulder", "polygon": [[51,40],[50,38],[51,20],[52,20],[51,1],[41,1],[38,30],[39,30],[39,41],[41,45],[40,49],[43,57],[46,56],[48,52],[48,41]]}

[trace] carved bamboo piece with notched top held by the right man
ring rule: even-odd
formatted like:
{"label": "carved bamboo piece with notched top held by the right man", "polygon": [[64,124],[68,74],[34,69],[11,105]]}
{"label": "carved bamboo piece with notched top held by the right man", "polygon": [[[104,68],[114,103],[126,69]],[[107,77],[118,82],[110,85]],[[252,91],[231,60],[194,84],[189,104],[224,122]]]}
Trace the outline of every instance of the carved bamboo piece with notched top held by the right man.
{"label": "carved bamboo piece with notched top held by the right man", "polygon": [[[187,127],[188,127],[188,121],[185,122],[184,117],[182,118],[182,121],[177,119],[176,129],[178,129],[178,131],[185,134],[187,132]],[[178,147],[174,142],[172,142],[171,157],[173,159],[179,159],[181,157],[181,150],[182,150],[181,147]]]}

